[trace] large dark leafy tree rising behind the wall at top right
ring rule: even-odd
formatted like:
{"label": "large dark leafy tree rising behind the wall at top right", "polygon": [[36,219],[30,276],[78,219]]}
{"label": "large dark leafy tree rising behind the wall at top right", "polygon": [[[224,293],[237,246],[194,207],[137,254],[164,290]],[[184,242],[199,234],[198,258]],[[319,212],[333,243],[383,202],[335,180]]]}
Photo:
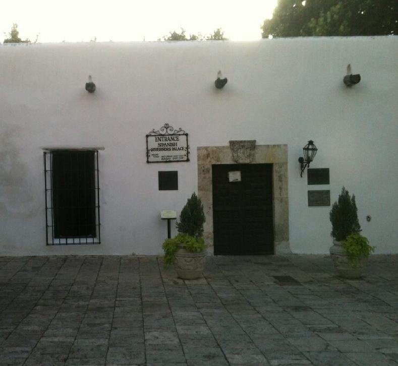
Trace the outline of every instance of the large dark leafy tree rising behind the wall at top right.
{"label": "large dark leafy tree rising behind the wall at top right", "polygon": [[262,37],[398,34],[396,0],[278,0]]}

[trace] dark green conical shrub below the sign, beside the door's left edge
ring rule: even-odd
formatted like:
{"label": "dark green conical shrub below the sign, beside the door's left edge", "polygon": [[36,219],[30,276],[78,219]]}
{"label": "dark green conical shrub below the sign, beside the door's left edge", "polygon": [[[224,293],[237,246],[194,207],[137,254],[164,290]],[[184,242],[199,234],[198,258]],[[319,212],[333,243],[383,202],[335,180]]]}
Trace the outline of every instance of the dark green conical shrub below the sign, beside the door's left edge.
{"label": "dark green conical shrub below the sign, beside the door's left edge", "polygon": [[194,192],[181,211],[180,222],[177,222],[177,230],[193,237],[201,237],[205,221],[202,201]]}

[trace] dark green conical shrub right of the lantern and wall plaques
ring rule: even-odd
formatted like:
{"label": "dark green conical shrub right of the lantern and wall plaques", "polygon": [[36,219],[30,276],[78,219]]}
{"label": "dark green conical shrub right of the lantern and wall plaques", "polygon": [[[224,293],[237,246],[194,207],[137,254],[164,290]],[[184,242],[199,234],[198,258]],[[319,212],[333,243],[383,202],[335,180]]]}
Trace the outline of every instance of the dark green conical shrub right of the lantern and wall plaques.
{"label": "dark green conical shrub right of the lantern and wall plaques", "polygon": [[330,234],[337,241],[343,241],[348,235],[361,231],[355,196],[350,197],[344,187],[330,210],[330,222],[332,224]]}

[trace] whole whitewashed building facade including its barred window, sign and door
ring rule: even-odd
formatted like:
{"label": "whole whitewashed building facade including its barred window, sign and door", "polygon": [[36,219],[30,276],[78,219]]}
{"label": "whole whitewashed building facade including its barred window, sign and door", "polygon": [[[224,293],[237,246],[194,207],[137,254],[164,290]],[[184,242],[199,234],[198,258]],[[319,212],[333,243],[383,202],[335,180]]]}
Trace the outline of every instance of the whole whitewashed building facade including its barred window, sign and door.
{"label": "whole whitewashed building facade including its barred window, sign and door", "polygon": [[[160,211],[193,192],[211,253],[328,253],[343,186],[376,253],[398,253],[396,36],[8,44],[0,73],[0,256],[160,254]],[[165,124],[182,142],[148,140]]]}

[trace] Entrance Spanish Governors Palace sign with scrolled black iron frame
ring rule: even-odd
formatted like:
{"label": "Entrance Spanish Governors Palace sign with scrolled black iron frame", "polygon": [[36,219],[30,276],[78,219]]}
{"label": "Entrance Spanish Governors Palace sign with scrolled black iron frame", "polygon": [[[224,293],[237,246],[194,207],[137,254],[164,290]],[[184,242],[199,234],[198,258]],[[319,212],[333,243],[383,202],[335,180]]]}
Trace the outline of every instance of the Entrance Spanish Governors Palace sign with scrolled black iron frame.
{"label": "Entrance Spanish Governors Palace sign with scrolled black iron frame", "polygon": [[188,134],[179,128],[175,130],[164,124],[146,135],[146,162],[167,163],[189,161]]}

